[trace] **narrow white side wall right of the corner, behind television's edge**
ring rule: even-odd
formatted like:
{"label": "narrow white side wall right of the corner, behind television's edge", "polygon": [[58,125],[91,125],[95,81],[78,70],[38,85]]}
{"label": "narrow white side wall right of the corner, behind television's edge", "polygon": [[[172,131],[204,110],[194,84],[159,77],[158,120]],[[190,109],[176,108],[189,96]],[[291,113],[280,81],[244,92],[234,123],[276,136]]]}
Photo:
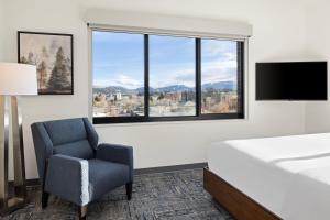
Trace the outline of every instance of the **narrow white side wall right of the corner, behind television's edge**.
{"label": "narrow white side wall right of the corner, behind television's edge", "polygon": [[[316,0],[308,7],[307,48],[309,57],[330,59],[329,10],[330,2],[327,0]],[[328,89],[328,98],[330,98],[330,89]],[[330,100],[308,102],[306,112],[306,131],[308,133],[330,132]]]}

